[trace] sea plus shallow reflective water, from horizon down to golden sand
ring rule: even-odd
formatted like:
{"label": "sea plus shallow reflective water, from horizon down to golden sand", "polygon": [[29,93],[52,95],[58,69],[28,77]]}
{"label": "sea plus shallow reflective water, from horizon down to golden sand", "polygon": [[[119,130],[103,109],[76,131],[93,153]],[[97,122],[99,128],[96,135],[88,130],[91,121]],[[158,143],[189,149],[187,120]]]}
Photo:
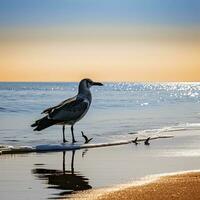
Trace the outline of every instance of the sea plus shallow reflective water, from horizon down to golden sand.
{"label": "sea plus shallow reflective water, from horizon down to golden sand", "polygon": [[[62,142],[60,126],[33,132],[45,108],[76,94],[77,83],[0,83],[0,143]],[[105,83],[92,89],[88,114],[75,126],[93,142],[174,135],[149,146],[0,156],[1,199],[58,199],[74,191],[200,166],[200,83]],[[67,129],[70,140],[70,130]],[[65,159],[64,159],[65,158]]]}

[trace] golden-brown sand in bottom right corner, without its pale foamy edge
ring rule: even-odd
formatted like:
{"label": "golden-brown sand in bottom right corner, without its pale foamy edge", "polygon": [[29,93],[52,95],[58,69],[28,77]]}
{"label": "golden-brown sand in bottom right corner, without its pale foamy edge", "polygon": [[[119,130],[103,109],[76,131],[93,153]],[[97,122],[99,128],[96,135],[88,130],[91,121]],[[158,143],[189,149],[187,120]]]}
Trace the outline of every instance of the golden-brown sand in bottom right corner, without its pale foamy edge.
{"label": "golden-brown sand in bottom right corner, without its pale foamy edge", "polygon": [[144,185],[101,195],[96,200],[199,200],[200,172],[161,177]]}

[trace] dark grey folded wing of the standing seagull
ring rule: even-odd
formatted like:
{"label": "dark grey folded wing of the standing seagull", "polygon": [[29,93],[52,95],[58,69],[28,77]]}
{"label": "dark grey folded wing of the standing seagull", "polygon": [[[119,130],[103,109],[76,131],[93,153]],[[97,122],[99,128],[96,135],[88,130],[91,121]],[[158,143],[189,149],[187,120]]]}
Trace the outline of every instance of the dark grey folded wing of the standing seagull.
{"label": "dark grey folded wing of the standing seagull", "polygon": [[48,115],[49,119],[60,122],[73,122],[81,119],[87,112],[90,103],[87,99],[75,98],[64,102],[61,106],[54,108]]}

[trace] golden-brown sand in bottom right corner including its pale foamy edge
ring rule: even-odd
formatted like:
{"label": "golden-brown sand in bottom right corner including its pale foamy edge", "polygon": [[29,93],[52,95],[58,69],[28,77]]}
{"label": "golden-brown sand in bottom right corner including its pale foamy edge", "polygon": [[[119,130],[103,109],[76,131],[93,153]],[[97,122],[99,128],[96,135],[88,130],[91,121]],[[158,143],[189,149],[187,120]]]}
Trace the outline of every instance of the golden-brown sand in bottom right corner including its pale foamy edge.
{"label": "golden-brown sand in bottom right corner including its pale foamy edge", "polygon": [[93,200],[199,200],[200,170],[149,175],[127,184],[83,191],[70,199]]}

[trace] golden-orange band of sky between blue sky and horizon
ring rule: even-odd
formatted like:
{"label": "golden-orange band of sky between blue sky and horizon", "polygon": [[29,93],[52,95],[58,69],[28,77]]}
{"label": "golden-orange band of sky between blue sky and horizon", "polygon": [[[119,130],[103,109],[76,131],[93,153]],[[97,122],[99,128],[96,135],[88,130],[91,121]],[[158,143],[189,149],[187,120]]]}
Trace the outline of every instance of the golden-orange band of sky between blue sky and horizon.
{"label": "golden-orange band of sky between blue sky and horizon", "polygon": [[199,31],[59,27],[2,32],[1,81],[200,81]]}

